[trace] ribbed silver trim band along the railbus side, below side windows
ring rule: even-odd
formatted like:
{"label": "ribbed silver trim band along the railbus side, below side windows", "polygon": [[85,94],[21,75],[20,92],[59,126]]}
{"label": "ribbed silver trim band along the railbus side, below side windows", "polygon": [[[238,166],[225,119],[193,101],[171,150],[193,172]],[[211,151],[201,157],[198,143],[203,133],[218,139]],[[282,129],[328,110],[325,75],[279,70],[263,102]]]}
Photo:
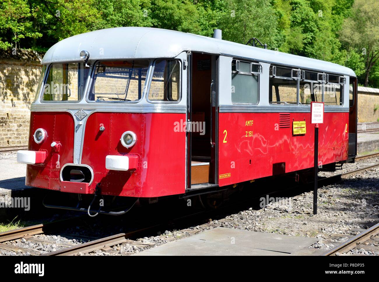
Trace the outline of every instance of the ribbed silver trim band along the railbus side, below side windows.
{"label": "ribbed silver trim band along the railbus side, below side windows", "polygon": [[[310,112],[310,106],[220,105],[219,112]],[[349,112],[349,108],[325,106],[324,112]]]}

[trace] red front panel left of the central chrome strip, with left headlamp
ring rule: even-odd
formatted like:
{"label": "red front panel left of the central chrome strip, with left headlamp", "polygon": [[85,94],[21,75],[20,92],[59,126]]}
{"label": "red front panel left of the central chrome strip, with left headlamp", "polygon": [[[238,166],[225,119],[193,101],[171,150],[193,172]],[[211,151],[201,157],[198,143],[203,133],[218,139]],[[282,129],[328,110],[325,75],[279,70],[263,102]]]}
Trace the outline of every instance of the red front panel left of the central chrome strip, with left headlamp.
{"label": "red front panel left of the central chrome strip, with left headlamp", "polygon": [[[43,128],[47,136],[43,143],[33,140],[34,131]],[[60,142],[59,153],[50,144]],[[60,168],[72,163],[74,150],[74,118],[68,112],[31,112],[28,150],[45,150],[47,157],[42,164],[27,165],[26,185],[60,190]]]}

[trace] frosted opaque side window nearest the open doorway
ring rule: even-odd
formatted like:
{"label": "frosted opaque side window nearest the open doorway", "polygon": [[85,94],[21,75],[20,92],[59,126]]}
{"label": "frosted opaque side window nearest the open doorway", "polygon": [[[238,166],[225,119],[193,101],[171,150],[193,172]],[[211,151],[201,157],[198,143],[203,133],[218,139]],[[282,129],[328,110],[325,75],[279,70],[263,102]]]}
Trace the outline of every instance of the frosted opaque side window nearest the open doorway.
{"label": "frosted opaque side window nearest the open doorway", "polygon": [[260,73],[260,64],[232,60],[232,103],[258,103]]}

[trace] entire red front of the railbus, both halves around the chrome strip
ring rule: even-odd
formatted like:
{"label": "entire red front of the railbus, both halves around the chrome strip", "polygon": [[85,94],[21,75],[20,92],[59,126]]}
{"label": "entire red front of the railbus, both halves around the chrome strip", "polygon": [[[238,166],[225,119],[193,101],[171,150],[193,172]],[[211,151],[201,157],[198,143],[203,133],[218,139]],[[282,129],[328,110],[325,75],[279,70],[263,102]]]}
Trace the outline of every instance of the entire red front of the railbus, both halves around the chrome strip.
{"label": "entire red front of the railbus, both halves around the chrome strip", "polygon": [[[81,193],[94,193],[99,182],[104,195],[157,197],[184,193],[186,132],[174,131],[175,122],[180,120],[185,120],[185,114],[95,112],[90,115],[85,125],[81,164],[92,168],[94,179]],[[100,124],[104,131],[99,130]],[[47,132],[42,144],[33,141],[37,128]],[[120,142],[122,133],[128,130],[137,136],[136,144],[129,149]],[[60,143],[59,152],[50,146],[52,142]],[[60,190],[61,167],[73,162],[73,117],[66,112],[32,112],[29,150],[46,150],[47,158],[43,164],[28,165],[26,184]],[[138,157],[138,163],[131,159],[136,170],[106,170],[107,155],[125,154]],[[72,188],[74,192],[78,187]]]}

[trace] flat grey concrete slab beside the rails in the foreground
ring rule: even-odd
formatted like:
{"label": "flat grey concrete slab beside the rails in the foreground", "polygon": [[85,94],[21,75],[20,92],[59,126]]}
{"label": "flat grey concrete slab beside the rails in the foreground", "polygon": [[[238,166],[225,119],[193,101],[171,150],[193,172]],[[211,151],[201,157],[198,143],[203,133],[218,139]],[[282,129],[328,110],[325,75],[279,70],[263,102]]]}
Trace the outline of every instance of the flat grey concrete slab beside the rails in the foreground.
{"label": "flat grey concrete slab beside the rails in the foreground", "polygon": [[216,227],[136,256],[289,256],[317,241],[317,238]]}

